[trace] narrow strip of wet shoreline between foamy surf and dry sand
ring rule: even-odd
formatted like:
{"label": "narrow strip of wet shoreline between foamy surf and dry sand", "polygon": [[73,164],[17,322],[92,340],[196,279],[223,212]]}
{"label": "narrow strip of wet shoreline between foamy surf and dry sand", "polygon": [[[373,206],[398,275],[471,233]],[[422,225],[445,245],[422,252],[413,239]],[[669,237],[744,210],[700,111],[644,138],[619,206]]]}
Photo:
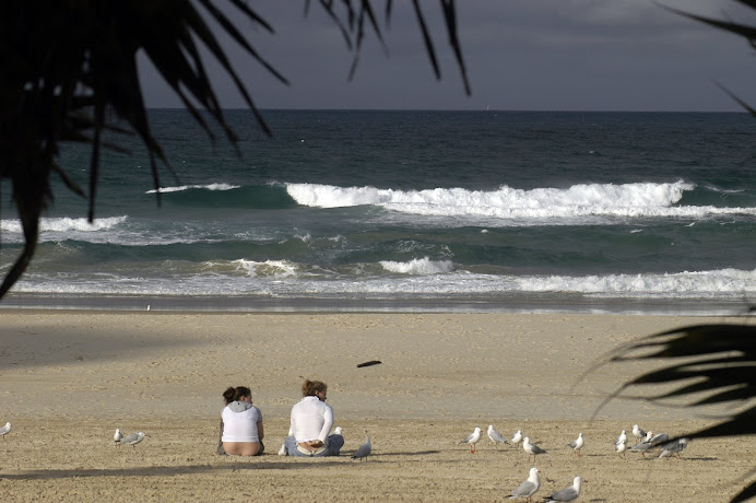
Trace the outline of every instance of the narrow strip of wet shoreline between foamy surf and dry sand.
{"label": "narrow strip of wet shoreline between foamy surf and dry sand", "polygon": [[165,312],[165,313],[477,313],[606,314],[641,316],[739,316],[754,302],[728,299],[627,299],[574,294],[437,299],[343,299],[180,295],[38,295],[10,293],[0,312]]}

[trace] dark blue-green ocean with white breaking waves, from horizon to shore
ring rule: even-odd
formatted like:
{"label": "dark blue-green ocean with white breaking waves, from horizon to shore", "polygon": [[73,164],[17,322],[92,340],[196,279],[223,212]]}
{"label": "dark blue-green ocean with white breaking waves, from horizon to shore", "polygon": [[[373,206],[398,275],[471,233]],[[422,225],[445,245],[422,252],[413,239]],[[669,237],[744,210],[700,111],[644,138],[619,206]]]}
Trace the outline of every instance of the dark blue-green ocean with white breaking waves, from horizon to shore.
{"label": "dark blue-green ocean with white breaking waves, from horizon to shore", "polygon": [[[152,110],[101,166],[96,220],[55,180],[0,307],[741,313],[756,303],[747,114],[227,110],[238,152]],[[86,187],[88,149],[60,164]],[[2,187],[0,273],[22,246]]]}

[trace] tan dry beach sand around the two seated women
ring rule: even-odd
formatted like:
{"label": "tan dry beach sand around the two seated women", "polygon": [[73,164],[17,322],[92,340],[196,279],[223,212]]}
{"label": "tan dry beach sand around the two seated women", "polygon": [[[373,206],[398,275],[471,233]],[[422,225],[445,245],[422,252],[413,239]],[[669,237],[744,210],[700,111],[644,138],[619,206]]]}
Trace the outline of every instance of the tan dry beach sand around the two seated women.
{"label": "tan dry beach sand around the two seated women", "polygon": [[[567,314],[165,314],[0,311],[3,501],[501,501],[541,470],[536,500],[588,480],[579,501],[724,502],[752,479],[753,437],[693,442],[682,459],[614,453],[634,423],[682,434],[722,410],[615,399],[659,362],[602,366],[645,335],[727,318]],[[357,364],[380,360],[379,365]],[[338,458],[276,456],[304,377],[329,385]],[[217,456],[227,386],[252,388],[268,453]],[[646,389],[637,390],[646,393]],[[477,453],[494,424],[547,454]],[[135,447],[113,433],[143,431]],[[579,432],[582,456],[567,447]],[[374,454],[349,454],[373,440]],[[657,454],[658,455],[658,454]],[[524,500],[520,500],[524,501]]]}

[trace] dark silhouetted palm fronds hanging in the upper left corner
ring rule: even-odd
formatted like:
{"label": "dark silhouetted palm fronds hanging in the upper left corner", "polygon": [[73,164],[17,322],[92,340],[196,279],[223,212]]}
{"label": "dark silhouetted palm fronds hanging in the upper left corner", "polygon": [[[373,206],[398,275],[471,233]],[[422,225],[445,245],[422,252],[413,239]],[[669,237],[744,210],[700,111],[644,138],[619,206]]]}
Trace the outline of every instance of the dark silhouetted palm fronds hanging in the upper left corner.
{"label": "dark silhouetted palm fronds hanging in the upper left corner", "polygon": [[[106,130],[138,134],[150,155],[152,183],[160,188],[161,165],[172,172],[152,136],[140,89],[137,55],[150,58],[209,137],[213,133],[201,110],[209,112],[232,144],[236,136],[226,122],[205,72],[202,49],[217,61],[236,84],[261,128],[270,134],[247,86],[209,27],[214,21],[248,56],[275,75],[286,79],[260,56],[239,28],[239,20],[273,33],[271,24],[244,0],[227,0],[232,16],[214,0],[57,0],[0,2],[0,182],[12,185],[13,203],[24,232],[24,248],[0,284],[0,297],[26,270],[37,245],[39,218],[52,200],[50,175],[56,173],[78,195],[88,199],[88,219],[95,214],[101,150]],[[309,0],[305,1],[308,9]],[[371,0],[320,0],[354,51],[357,66],[367,32],[382,44],[382,31]],[[391,16],[386,1],[386,23]],[[440,75],[434,44],[420,2],[413,2],[420,31],[436,77]],[[457,56],[469,93],[457,34],[453,0],[439,0],[449,43]],[[292,8],[297,5],[292,2]],[[115,125],[125,125],[122,128]],[[57,164],[61,142],[88,143],[92,156],[86,190]],[[158,203],[160,203],[160,192]]]}

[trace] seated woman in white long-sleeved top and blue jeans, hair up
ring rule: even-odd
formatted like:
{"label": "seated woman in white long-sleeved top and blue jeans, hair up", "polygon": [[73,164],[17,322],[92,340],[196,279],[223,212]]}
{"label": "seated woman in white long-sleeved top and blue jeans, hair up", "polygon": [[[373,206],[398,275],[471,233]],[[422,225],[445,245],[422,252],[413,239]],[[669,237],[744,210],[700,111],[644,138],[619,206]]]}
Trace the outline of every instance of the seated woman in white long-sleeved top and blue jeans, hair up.
{"label": "seated woman in white long-sleeved top and blue jeans, hair up", "polygon": [[339,456],[344,437],[329,436],[333,426],[333,409],[326,403],[328,386],[320,381],[305,381],[304,398],[292,407],[292,429],[284,441],[288,456]]}

